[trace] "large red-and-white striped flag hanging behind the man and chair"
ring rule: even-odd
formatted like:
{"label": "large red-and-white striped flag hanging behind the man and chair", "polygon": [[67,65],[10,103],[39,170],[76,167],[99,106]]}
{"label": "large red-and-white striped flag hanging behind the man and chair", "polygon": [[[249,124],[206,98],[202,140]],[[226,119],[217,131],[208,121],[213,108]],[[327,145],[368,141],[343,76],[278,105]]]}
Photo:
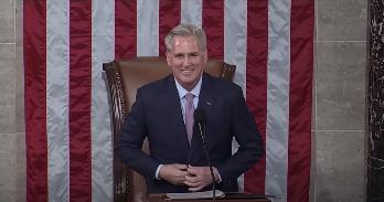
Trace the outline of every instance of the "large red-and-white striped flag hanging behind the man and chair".
{"label": "large red-and-white striped flag hanging behind the man and chair", "polygon": [[178,23],[207,34],[266,152],[241,189],[309,201],[313,0],[24,0],[26,199],[113,200],[111,131],[102,64],[163,55]]}

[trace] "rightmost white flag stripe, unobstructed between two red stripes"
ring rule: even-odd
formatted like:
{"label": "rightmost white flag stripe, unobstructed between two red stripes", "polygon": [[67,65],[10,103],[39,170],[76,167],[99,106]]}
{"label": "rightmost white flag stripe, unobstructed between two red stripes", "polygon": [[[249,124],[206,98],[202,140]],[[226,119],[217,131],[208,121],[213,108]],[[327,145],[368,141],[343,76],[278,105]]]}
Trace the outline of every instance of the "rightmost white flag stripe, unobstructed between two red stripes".
{"label": "rightmost white flag stripe, unobstructed between two red stripes", "polygon": [[266,194],[287,201],[290,1],[268,1]]}

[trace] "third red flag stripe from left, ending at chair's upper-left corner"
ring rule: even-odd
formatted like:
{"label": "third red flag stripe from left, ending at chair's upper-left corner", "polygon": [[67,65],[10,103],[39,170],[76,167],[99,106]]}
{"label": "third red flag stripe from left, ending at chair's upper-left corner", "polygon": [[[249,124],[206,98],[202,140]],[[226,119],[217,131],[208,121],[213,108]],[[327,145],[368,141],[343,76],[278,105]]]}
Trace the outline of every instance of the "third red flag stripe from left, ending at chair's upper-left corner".
{"label": "third red flag stripe from left, ending at chair's upper-left corner", "polygon": [[137,55],[137,2],[115,1],[115,59]]}

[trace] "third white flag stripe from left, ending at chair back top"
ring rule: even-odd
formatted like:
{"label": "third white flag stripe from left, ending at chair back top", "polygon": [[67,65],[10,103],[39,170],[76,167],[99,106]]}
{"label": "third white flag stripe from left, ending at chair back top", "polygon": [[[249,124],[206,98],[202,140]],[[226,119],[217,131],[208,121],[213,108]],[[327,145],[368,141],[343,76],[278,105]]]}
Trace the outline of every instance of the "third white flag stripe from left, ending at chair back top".
{"label": "third white flag stripe from left, ending at chair back top", "polygon": [[137,1],[137,56],[159,55],[159,0]]}

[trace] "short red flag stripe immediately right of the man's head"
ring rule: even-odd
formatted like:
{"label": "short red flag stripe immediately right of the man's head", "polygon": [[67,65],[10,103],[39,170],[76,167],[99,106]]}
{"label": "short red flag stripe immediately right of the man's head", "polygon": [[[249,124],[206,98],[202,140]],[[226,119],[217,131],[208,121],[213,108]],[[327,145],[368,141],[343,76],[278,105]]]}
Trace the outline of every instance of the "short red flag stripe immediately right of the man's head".
{"label": "short red flag stripe immediately right of the man's head", "polygon": [[224,59],[224,1],[203,1],[203,29],[209,57]]}

